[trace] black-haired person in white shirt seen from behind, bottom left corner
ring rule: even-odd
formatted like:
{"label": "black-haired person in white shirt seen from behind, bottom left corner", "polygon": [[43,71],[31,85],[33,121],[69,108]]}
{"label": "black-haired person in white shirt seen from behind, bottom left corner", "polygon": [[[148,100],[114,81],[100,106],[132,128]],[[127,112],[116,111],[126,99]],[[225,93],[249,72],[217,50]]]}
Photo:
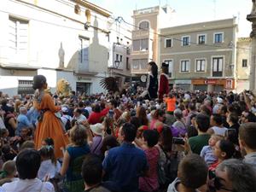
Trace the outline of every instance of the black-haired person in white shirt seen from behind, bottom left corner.
{"label": "black-haired person in white shirt seen from behind, bottom left corner", "polygon": [[5,183],[0,192],[55,192],[52,183],[42,182],[37,178],[41,156],[35,149],[25,149],[18,154],[16,167],[19,179]]}

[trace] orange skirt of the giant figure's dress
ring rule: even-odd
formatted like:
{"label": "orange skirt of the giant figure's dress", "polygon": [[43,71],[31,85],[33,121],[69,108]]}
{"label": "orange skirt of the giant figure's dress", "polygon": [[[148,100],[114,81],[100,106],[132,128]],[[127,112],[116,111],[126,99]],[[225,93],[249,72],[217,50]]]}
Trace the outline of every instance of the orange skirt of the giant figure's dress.
{"label": "orange skirt of the giant figure's dress", "polygon": [[60,119],[55,117],[55,114],[50,111],[46,111],[43,120],[38,122],[34,137],[36,149],[41,148],[42,142],[47,137],[54,140],[55,158],[62,158],[63,154],[61,148],[65,148],[69,140],[62,130]]}

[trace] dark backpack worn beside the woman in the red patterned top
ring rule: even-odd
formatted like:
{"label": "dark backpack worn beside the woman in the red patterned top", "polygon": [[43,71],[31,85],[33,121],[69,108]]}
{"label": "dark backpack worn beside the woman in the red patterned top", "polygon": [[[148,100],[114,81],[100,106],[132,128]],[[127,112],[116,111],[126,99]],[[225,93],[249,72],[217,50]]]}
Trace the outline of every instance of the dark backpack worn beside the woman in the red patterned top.
{"label": "dark backpack worn beside the woman in the red patterned top", "polygon": [[159,147],[160,158],[158,160],[158,180],[160,186],[168,186],[177,177],[177,152],[173,155],[168,155]]}

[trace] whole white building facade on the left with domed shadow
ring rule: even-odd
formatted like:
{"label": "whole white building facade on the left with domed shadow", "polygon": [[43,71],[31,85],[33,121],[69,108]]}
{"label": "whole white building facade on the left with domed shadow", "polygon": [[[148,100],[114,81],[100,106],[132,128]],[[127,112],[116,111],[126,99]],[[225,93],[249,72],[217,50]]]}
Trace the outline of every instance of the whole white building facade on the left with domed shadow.
{"label": "whole white building facade on the left with domed shadow", "polygon": [[0,90],[32,93],[43,74],[52,92],[64,78],[73,90],[102,92],[108,77],[111,12],[84,0],[3,0],[0,10]]}

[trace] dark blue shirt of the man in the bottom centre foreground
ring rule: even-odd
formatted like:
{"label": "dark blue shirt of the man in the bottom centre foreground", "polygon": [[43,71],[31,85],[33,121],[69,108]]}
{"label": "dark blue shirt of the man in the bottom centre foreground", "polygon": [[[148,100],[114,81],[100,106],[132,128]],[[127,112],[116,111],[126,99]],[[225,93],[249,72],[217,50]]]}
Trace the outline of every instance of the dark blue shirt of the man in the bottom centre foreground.
{"label": "dark blue shirt of the man in the bottom centre foreground", "polygon": [[111,148],[103,161],[108,180],[123,192],[137,192],[139,177],[147,169],[146,154],[130,143]]}

